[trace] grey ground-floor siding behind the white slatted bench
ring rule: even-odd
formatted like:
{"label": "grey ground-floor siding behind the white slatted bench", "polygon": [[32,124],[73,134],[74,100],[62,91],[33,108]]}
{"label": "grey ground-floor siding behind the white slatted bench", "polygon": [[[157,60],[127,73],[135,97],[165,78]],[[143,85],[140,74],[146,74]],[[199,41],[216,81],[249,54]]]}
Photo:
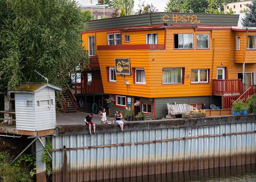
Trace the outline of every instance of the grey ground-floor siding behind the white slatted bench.
{"label": "grey ground-floor siding behind the white slatted bench", "polygon": [[[167,104],[188,104],[204,102],[205,105],[210,106],[210,96],[195,96],[195,97],[167,97],[155,98],[155,118],[159,119],[168,115]],[[212,96],[211,104],[221,106],[221,96]]]}

